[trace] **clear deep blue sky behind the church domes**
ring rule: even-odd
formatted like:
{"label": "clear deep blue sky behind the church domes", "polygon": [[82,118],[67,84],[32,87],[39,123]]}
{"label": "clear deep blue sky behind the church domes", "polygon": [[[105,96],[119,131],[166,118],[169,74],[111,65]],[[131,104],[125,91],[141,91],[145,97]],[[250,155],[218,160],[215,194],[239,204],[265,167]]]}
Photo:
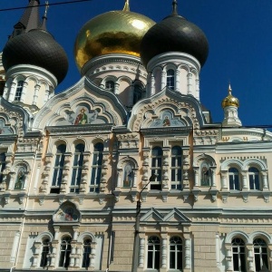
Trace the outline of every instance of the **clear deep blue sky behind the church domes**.
{"label": "clear deep blue sky behind the church domes", "polygon": [[[200,101],[210,110],[213,121],[223,120],[221,101],[228,94],[230,82],[233,95],[240,101],[238,115],[243,125],[272,125],[272,1],[178,0],[178,3],[179,14],[199,25],[209,40],[209,57],[200,73]],[[1,0],[0,9],[27,4],[28,0]],[[95,15],[120,10],[123,4],[124,0],[90,0],[49,8],[47,29],[63,45],[70,65],[57,92],[80,79],[73,44],[83,24]],[[171,12],[171,0],[131,0],[130,5],[131,11],[155,22]],[[0,12],[1,49],[22,13],[23,10]]]}

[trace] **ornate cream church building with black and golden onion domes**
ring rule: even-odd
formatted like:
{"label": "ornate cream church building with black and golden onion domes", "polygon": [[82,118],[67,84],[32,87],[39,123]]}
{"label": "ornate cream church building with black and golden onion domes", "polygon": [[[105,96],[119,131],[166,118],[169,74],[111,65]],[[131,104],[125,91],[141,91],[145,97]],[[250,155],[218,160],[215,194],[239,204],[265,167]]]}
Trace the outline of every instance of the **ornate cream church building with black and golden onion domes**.
{"label": "ornate cream church building with black and golden onion domes", "polygon": [[39,5],[0,54],[0,271],[272,271],[272,133],[242,126],[230,86],[212,122],[209,44],[176,0],[157,24],[126,1],[83,25],[58,93]]}

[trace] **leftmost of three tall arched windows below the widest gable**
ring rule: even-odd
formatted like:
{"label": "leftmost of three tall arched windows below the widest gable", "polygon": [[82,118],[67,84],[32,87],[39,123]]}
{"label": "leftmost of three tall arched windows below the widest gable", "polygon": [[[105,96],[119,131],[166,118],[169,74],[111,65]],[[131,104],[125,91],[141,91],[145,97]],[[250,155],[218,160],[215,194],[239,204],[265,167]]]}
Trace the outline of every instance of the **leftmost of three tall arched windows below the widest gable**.
{"label": "leftmost of three tall arched windows below the widest gable", "polygon": [[57,147],[55,154],[54,167],[53,167],[53,180],[51,186],[51,193],[60,193],[60,187],[63,179],[63,165],[64,165],[64,153],[66,151],[66,145],[60,144]]}

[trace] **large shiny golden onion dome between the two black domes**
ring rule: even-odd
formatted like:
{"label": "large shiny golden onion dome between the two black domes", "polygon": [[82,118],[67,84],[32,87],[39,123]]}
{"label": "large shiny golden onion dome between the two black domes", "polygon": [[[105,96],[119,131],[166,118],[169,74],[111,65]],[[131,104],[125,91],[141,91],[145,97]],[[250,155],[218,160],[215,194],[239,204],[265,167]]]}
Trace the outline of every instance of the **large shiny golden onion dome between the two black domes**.
{"label": "large shiny golden onion dome between the two black domes", "polygon": [[123,10],[94,17],[83,25],[74,44],[78,68],[81,70],[93,57],[107,53],[140,56],[141,38],[154,24],[150,18],[132,13],[128,0]]}

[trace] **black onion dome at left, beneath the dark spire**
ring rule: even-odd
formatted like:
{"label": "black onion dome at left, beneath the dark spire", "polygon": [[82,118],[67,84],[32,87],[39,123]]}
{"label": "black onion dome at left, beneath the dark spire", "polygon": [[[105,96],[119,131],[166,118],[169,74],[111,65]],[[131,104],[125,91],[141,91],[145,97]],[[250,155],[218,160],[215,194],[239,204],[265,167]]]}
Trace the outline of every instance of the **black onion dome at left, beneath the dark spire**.
{"label": "black onion dome at left, beneath the dark spire", "polygon": [[41,29],[10,38],[3,50],[5,71],[19,64],[32,64],[53,73],[61,83],[68,71],[68,58],[53,36]]}

